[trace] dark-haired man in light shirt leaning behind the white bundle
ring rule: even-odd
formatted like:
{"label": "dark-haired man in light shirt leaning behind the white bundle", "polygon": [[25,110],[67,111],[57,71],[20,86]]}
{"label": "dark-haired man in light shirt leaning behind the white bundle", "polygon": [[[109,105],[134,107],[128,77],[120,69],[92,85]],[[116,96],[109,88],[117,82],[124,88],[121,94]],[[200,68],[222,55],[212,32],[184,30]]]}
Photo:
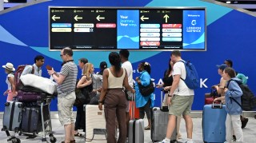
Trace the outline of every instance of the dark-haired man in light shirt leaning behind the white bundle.
{"label": "dark-haired man in light shirt leaning behind the white bundle", "polygon": [[34,58],[34,65],[28,65],[22,71],[22,75],[26,75],[27,73],[33,73],[39,77],[42,77],[42,66],[45,63],[45,58],[42,55],[38,55]]}

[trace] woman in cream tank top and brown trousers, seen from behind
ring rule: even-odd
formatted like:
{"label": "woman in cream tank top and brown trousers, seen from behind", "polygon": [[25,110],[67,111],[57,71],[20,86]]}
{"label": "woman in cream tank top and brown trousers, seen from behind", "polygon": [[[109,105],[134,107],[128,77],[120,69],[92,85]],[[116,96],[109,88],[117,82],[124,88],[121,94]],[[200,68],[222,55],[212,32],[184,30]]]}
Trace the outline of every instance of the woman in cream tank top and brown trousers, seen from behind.
{"label": "woman in cream tank top and brown trousers, seen from behind", "polygon": [[99,98],[98,109],[102,110],[106,118],[107,142],[115,143],[115,124],[118,119],[119,137],[118,142],[126,142],[126,95],[122,90],[126,89],[134,93],[128,83],[128,76],[125,69],[121,68],[121,58],[118,53],[111,52],[109,55],[110,68],[103,71],[102,92]]}

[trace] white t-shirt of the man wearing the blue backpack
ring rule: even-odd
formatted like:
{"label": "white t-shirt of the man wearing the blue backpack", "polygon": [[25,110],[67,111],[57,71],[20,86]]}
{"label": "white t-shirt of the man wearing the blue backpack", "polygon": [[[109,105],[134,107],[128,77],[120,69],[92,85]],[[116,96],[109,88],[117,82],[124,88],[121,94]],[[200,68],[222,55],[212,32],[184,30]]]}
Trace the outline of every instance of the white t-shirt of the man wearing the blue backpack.
{"label": "white t-shirt of the man wearing the blue backpack", "polygon": [[[173,69],[174,69],[173,76],[174,75],[181,75],[182,79],[186,78],[186,69],[185,69],[185,66],[184,66],[183,62],[176,62],[174,64]],[[194,95],[194,89],[189,89],[186,86],[185,81],[183,81],[182,79],[179,80],[178,87],[177,87],[177,89],[175,89],[174,94],[179,95],[179,96]]]}

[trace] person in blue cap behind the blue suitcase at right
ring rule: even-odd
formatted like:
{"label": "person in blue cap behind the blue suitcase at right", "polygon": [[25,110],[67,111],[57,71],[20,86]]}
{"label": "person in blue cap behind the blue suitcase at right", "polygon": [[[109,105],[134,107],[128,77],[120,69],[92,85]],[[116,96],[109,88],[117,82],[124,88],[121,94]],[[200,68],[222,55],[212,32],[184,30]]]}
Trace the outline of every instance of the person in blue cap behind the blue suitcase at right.
{"label": "person in blue cap behind the blue suitcase at right", "polygon": [[[226,64],[217,65],[218,67],[218,74],[222,77],[224,69],[227,67]],[[214,85],[214,88],[217,90],[217,93],[220,94],[222,97],[225,96],[224,89],[226,85],[226,80],[221,78],[218,85]]]}

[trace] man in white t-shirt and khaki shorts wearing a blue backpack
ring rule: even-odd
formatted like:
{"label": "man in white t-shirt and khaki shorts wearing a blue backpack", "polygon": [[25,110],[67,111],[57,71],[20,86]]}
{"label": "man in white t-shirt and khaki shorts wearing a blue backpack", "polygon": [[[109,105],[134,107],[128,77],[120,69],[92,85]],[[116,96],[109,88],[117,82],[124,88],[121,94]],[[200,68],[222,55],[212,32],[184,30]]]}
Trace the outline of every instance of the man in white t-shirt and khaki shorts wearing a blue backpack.
{"label": "man in white t-shirt and khaki shorts wearing a blue backpack", "polygon": [[172,51],[170,58],[171,61],[174,62],[174,81],[167,100],[168,104],[170,105],[170,109],[169,120],[166,129],[166,138],[160,142],[170,142],[170,137],[174,132],[176,125],[176,117],[183,116],[186,121],[186,143],[194,143],[192,141],[193,122],[190,117],[191,106],[194,100],[194,90],[189,89],[186,86],[185,81],[182,80],[186,79],[186,68],[183,62],[179,62],[183,61],[181,58],[181,52],[179,50]]}

